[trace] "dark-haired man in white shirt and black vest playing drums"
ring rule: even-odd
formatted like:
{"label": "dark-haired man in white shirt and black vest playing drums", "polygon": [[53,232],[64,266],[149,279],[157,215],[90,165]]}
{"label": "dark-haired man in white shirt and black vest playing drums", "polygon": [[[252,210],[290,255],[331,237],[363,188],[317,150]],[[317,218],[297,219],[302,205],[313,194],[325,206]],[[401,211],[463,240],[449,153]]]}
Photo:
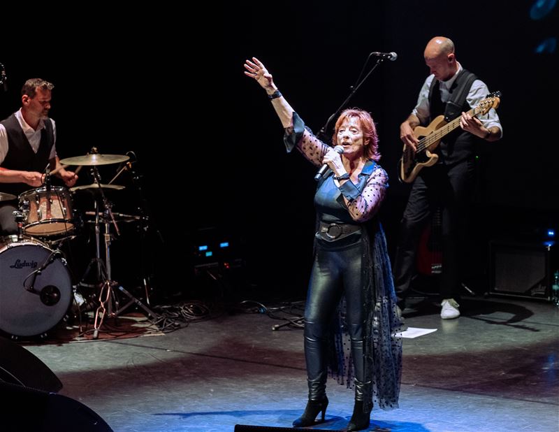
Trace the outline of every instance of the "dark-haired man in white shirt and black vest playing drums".
{"label": "dark-haired man in white shirt and black vest playing drums", "polygon": [[[27,80],[22,87],[22,107],[0,122],[0,192],[15,196],[40,187],[47,165],[57,170],[66,186],[75,185],[78,175],[62,168],[56,152],[55,120],[48,117],[55,86],[41,78]],[[0,235],[17,233],[13,211],[17,202],[0,202]]]}

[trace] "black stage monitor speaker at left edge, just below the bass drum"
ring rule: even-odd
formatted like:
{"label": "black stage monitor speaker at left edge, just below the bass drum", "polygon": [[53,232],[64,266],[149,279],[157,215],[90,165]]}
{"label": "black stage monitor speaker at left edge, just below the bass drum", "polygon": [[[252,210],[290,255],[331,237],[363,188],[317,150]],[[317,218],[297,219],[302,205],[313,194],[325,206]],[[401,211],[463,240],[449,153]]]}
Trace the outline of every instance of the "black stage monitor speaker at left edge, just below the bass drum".
{"label": "black stage monitor speaker at left edge, just below the bass drum", "polygon": [[62,383],[57,375],[24,347],[0,337],[0,382],[57,393]]}

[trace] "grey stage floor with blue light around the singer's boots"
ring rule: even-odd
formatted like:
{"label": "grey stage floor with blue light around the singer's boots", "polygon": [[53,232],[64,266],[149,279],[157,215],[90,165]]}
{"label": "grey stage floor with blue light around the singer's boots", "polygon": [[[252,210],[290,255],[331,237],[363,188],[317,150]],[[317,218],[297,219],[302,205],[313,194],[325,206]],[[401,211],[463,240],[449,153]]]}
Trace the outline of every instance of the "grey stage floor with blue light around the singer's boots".
{"label": "grey stage floor with blue light around the singer's boots", "polygon": [[[303,331],[273,330],[283,322],[259,312],[274,306],[243,303],[163,335],[23,346],[59,377],[59,394],[115,432],[289,428],[307,397]],[[496,297],[460,309],[446,321],[429,302],[407,314],[409,327],[436,331],[404,340],[400,408],[375,407],[368,431],[558,431],[559,310]],[[327,391],[314,429],[343,429],[352,391],[331,380]]]}

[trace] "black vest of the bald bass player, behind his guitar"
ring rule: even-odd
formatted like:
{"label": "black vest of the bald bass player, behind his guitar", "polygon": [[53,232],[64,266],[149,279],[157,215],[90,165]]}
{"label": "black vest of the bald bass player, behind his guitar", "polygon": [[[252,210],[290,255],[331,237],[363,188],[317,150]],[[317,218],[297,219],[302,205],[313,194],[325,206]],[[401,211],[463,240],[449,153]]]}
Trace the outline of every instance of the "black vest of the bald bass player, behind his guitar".
{"label": "black vest of the bald bass player, behind his guitar", "polygon": [[[470,107],[466,101],[472,82],[477,77],[470,71],[463,69],[458,73],[450,89],[450,99],[447,103],[443,103],[440,98],[439,80],[434,79],[429,89],[429,107],[430,119],[432,122],[437,115],[444,115],[444,120],[450,122],[462,114],[467,112]],[[474,145],[477,139],[470,132],[463,131],[460,127],[454,129],[451,133],[442,138],[437,147],[437,154],[440,155],[439,161],[449,166],[456,165],[462,161],[472,159],[474,157]]]}

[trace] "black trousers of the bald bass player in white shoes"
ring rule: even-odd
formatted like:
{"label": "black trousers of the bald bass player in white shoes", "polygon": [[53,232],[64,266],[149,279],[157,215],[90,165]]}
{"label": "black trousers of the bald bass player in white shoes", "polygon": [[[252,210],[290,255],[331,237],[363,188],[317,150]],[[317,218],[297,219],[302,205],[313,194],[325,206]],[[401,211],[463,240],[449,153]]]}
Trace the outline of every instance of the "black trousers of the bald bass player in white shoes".
{"label": "black trousers of the bald bass player in white shoes", "polygon": [[416,275],[419,238],[432,211],[442,208],[442,275],[439,294],[458,298],[462,282],[467,219],[474,186],[474,162],[464,161],[451,168],[444,164],[423,168],[414,181],[400,224],[394,259],[394,285],[402,307],[412,278]]}

